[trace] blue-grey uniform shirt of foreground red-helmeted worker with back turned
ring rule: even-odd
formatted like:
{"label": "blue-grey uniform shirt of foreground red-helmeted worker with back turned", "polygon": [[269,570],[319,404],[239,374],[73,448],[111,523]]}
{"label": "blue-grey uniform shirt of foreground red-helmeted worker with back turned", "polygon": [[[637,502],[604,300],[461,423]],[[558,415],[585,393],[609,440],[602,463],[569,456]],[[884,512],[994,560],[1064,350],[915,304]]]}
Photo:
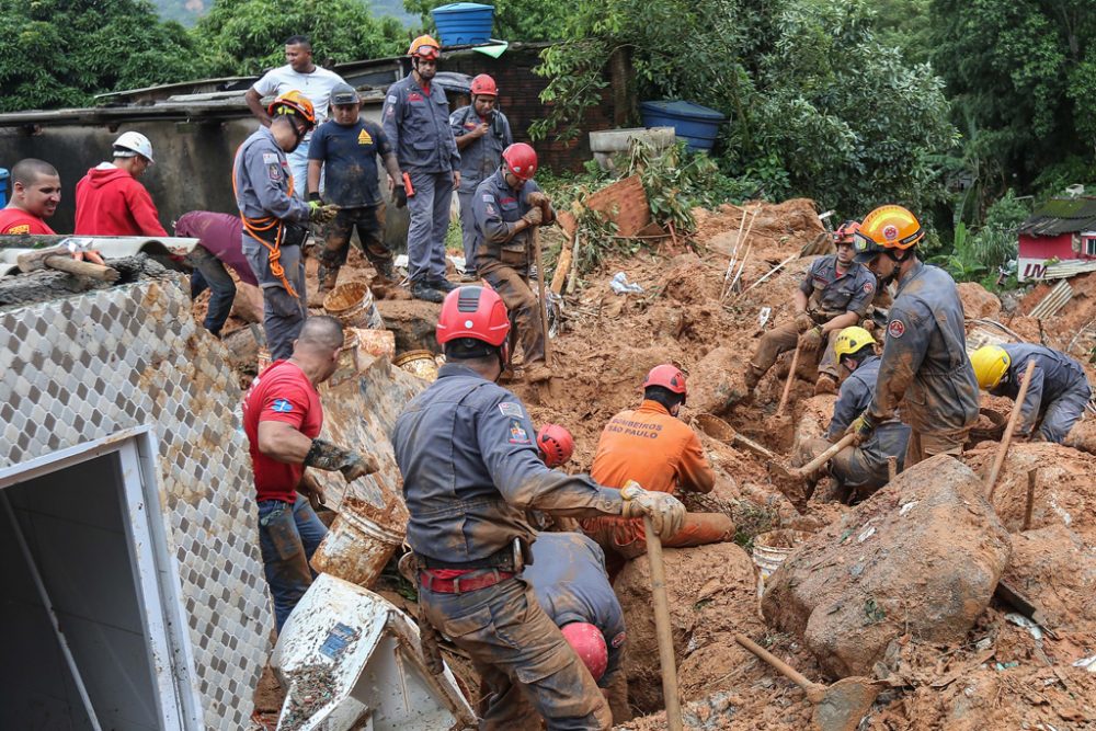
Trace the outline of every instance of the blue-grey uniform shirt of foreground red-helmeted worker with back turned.
{"label": "blue-grey uniform shirt of foreground red-helmeted worker with back turned", "polygon": [[515,537],[532,540],[533,507],[620,514],[619,491],[548,469],[535,438],[521,399],[467,366],[442,366],[392,431],[415,553],[454,564],[486,559]]}

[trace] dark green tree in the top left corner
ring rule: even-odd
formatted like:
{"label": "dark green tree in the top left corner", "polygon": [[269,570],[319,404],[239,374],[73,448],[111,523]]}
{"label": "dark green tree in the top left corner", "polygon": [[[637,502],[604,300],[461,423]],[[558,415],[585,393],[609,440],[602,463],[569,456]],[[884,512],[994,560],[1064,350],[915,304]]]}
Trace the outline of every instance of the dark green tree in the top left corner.
{"label": "dark green tree in the top left corner", "polygon": [[0,16],[3,112],[82,106],[196,72],[186,32],[145,0],[0,0]]}

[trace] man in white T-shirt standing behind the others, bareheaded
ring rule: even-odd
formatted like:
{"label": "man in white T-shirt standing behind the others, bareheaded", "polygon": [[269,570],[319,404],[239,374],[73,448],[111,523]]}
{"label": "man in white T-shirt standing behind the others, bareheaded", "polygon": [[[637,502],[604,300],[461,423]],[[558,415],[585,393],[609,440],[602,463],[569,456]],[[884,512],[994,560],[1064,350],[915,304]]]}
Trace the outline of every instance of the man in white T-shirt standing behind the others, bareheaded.
{"label": "man in white T-shirt standing behind the others, bareheaded", "polygon": [[[312,61],[312,42],[307,35],[294,35],[285,39],[285,66],[271,69],[256,81],[243,95],[251,113],[264,127],[273,122],[270,112],[263,107],[264,96],[282,96],[290,91],[302,94],[312,104],[316,125],[322,124],[328,117],[328,105],[331,92],[336,84],[345,83],[334,71],[317,66]],[[308,179],[308,147],[311,132],[305,133],[300,145],[287,157],[289,170],[296,182],[294,191],[298,198],[304,198],[305,181]],[[321,179],[322,187],[322,179]]]}

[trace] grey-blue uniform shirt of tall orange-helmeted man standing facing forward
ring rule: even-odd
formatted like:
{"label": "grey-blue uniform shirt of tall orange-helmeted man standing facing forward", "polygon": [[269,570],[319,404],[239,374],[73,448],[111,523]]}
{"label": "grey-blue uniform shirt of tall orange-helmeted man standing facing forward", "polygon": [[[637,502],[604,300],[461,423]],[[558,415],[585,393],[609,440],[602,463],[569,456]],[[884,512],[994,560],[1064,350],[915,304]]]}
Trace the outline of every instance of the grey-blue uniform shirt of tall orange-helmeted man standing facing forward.
{"label": "grey-blue uniform shirt of tall orange-helmeted man standing facing forward", "polygon": [[381,111],[385,135],[403,172],[457,170],[460,155],[449,129],[449,102],[437,83],[430,93],[408,76],[388,88]]}

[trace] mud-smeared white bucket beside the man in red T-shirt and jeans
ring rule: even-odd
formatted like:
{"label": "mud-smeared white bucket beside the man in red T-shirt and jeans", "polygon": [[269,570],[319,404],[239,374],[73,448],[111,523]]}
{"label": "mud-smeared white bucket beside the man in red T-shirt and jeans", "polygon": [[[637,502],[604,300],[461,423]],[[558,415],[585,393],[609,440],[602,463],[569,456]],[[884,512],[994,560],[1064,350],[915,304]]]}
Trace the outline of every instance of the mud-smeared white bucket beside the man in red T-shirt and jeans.
{"label": "mud-smeared white bucket beside the man in red T-shirt and jeans", "polygon": [[397,533],[395,526],[381,526],[366,517],[378,511],[365,501],[346,496],[339,516],[323,537],[310,561],[312,569],[352,584],[369,589],[396,549],[403,545],[407,522]]}

